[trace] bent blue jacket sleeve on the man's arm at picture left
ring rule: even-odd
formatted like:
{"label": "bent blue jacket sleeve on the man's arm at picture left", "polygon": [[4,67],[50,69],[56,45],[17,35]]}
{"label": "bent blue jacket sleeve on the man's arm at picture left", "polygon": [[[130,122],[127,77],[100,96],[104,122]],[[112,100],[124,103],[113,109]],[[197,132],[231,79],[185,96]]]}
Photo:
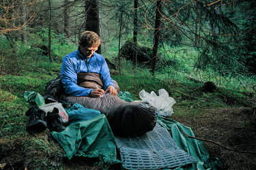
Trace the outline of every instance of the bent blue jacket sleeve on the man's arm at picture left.
{"label": "bent blue jacket sleeve on the man's arm at picture left", "polygon": [[65,92],[69,96],[86,96],[89,97],[92,89],[83,88],[77,85],[77,74],[74,70],[74,63],[70,61],[70,58],[64,57],[61,65],[61,82]]}

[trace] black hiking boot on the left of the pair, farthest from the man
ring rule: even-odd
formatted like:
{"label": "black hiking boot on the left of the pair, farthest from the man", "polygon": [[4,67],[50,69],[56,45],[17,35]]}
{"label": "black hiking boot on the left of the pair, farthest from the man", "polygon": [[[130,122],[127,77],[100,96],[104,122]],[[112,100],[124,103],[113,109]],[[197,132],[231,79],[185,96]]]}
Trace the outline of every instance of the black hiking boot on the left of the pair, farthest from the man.
{"label": "black hiking boot on the left of the pair, farthest from the man", "polygon": [[29,122],[27,123],[26,130],[31,132],[44,131],[47,128],[45,115],[44,111],[35,109],[35,107],[28,109],[26,116],[29,116]]}

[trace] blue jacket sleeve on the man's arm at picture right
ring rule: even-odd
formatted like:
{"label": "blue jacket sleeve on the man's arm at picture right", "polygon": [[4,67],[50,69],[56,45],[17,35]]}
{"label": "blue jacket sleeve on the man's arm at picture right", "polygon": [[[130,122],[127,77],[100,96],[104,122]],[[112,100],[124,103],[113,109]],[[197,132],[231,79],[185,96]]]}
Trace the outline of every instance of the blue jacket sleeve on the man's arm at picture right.
{"label": "blue jacket sleeve on the man's arm at picture right", "polygon": [[102,65],[101,65],[101,69],[100,69],[100,79],[102,80],[102,83],[104,84],[104,90],[106,90],[106,88],[108,88],[108,86],[115,87],[114,82],[109,73],[109,67],[106,64],[106,61],[103,56],[102,56]]}

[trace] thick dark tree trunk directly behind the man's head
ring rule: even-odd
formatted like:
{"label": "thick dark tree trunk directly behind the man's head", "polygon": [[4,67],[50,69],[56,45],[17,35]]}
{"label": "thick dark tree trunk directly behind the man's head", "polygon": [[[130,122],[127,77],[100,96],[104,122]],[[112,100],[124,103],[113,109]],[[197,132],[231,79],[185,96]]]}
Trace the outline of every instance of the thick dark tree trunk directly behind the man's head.
{"label": "thick dark tree trunk directly behind the man's head", "polygon": [[[98,0],[85,0],[85,30],[94,31],[100,35],[100,16]],[[100,53],[100,46],[97,50]]]}

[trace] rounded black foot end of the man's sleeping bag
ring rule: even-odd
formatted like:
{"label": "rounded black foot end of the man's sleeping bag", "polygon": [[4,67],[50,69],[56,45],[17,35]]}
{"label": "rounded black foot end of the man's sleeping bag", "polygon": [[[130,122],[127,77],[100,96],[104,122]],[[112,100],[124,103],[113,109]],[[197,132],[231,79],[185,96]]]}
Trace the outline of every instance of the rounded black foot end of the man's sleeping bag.
{"label": "rounded black foot end of the man's sleeping bag", "polygon": [[106,113],[113,131],[119,137],[139,137],[156,126],[156,113],[147,102],[115,105]]}

